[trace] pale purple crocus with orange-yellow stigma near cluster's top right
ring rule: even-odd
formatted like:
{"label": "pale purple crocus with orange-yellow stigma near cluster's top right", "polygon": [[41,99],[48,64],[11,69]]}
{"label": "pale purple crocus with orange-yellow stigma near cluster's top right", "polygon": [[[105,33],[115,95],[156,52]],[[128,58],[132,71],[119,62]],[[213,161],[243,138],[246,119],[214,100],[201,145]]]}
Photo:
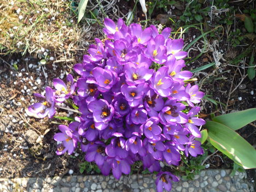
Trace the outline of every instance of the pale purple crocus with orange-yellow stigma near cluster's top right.
{"label": "pale purple crocus with orange-yellow stigma near cluster's top right", "polygon": [[149,40],[145,55],[156,63],[164,63],[167,60],[165,49],[165,37],[159,34],[154,39]]}

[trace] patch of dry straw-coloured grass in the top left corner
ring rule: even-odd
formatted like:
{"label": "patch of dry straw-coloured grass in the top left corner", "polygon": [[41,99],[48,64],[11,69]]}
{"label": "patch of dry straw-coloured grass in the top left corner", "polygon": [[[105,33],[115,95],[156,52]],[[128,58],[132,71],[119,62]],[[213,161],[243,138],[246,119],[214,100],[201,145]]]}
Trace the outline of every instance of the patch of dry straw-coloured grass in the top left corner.
{"label": "patch of dry straw-coloured grass in the top left corner", "polygon": [[40,48],[57,52],[77,48],[81,30],[69,3],[67,0],[0,0],[2,54],[32,53]]}

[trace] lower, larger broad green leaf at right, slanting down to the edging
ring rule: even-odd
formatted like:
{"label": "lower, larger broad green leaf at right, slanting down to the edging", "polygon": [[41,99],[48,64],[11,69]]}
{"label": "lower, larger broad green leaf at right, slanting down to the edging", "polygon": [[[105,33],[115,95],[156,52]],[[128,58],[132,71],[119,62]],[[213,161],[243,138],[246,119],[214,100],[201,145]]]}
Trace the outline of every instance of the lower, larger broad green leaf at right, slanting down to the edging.
{"label": "lower, larger broad green leaf at right, slanting down to the edging", "polygon": [[215,121],[208,121],[205,126],[215,148],[243,168],[256,167],[256,150],[237,132]]}

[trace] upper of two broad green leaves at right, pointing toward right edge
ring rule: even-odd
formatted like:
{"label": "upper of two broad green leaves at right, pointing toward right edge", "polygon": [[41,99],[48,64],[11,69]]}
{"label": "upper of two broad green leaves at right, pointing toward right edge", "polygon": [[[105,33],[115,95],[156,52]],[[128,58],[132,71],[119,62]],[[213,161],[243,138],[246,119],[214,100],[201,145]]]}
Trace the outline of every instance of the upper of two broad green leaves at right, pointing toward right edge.
{"label": "upper of two broad green leaves at right, pointing toward right edge", "polygon": [[212,120],[228,126],[235,131],[256,120],[256,108],[219,115]]}

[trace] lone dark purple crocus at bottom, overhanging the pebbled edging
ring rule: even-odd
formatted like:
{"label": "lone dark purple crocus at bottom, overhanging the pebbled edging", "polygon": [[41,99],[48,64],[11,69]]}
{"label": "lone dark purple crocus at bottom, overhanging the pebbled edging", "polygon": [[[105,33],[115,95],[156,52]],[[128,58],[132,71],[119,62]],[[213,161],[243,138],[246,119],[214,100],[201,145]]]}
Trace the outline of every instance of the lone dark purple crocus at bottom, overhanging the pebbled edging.
{"label": "lone dark purple crocus at bottom, overhanging the pebbled edging", "polygon": [[164,189],[171,191],[172,181],[178,182],[179,178],[170,172],[160,172],[156,174],[156,190],[162,192]]}

